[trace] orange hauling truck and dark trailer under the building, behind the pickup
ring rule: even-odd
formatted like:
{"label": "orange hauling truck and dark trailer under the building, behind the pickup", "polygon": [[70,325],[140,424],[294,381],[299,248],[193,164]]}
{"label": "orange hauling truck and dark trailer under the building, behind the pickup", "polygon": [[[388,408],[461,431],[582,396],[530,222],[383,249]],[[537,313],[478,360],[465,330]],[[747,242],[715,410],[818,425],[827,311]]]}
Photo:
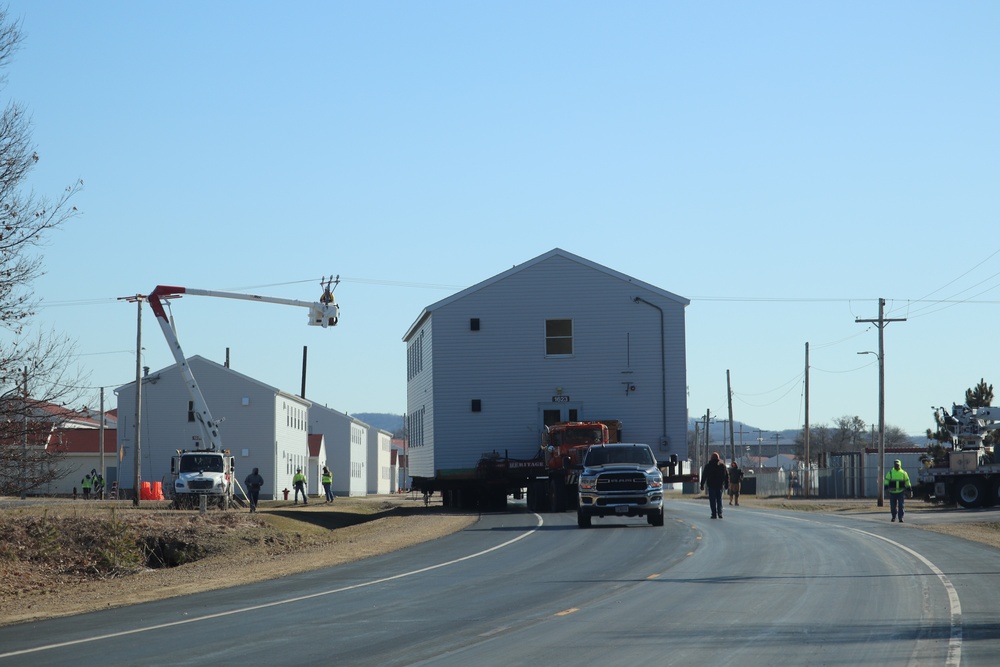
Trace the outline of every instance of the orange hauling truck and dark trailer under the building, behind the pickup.
{"label": "orange hauling truck and dark trailer under the building, behind the pickup", "polygon": [[[514,458],[507,452],[487,452],[468,469],[438,470],[432,478],[414,478],[413,488],[439,491],[446,506],[503,509],[508,496],[525,499],[533,512],[565,512],[579,505],[583,457],[594,445],[620,442],[621,422],[600,420],[560,422],[546,427],[533,458]],[[664,484],[697,481],[683,472],[676,455],[658,461]]]}

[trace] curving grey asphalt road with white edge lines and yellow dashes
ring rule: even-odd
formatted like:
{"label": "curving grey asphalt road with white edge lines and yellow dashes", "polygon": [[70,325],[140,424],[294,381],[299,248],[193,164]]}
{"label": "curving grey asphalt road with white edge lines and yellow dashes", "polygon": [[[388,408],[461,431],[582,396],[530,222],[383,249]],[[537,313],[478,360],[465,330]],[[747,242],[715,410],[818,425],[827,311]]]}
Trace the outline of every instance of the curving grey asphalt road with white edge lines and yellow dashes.
{"label": "curving grey asphalt road with white edge lines and yellow dashes", "polygon": [[997,563],[884,513],[713,521],[677,500],[663,528],[581,530],[513,511],[332,569],[0,628],[0,665],[994,665]]}

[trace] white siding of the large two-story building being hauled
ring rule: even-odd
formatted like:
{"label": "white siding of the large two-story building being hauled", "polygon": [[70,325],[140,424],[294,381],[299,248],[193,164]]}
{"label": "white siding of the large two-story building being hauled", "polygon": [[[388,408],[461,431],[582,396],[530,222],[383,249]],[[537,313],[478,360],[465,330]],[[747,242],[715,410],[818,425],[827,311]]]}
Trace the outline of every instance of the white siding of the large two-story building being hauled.
{"label": "white siding of the large two-story building being hauled", "polygon": [[[424,334],[431,346],[407,392],[409,416],[424,410],[423,446],[411,434],[414,476],[470,469],[490,451],[529,458],[543,411],[560,407],[579,419],[620,419],[624,439],[661,456],[685,453],[686,301],[567,255],[445,300],[411,330],[410,344]],[[662,337],[660,311],[645,302],[663,310]],[[573,354],[547,357],[545,321],[563,318],[573,322]],[[553,402],[560,391],[569,403]]]}

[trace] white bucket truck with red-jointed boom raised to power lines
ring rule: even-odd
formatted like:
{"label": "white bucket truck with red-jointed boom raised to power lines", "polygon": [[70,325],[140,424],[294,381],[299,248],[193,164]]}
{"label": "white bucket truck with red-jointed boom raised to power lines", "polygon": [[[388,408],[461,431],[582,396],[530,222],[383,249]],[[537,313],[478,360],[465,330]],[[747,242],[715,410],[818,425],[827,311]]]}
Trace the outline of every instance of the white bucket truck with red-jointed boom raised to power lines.
{"label": "white bucket truck with red-jointed boom raised to power lines", "polygon": [[149,293],[147,300],[156,315],[156,321],[160,324],[164,337],[170,346],[170,351],[174,355],[177,367],[180,369],[184,384],[187,387],[188,395],[191,398],[192,413],[198,423],[203,441],[194,450],[176,450],[176,454],[171,457],[170,472],[173,478],[172,496],[174,506],[178,509],[193,508],[202,502],[202,497],[206,504],[211,501],[218,504],[222,509],[228,509],[233,504],[234,489],[237,485],[235,471],[235,457],[228,449],[222,446],[222,438],[219,435],[219,423],[212,417],[212,412],[208,408],[205,396],[202,394],[198,381],[191,372],[184,352],[181,349],[180,341],[177,339],[177,332],[171,318],[167,316],[166,308],[169,306],[169,299],[179,298],[184,295],[191,296],[211,296],[226,299],[242,299],[247,301],[257,301],[262,303],[276,303],[287,306],[304,306],[309,309],[309,326],[319,326],[324,329],[336,326],[340,319],[340,308],[337,306],[333,296],[336,284],[340,278],[324,278],[320,281],[323,287],[323,294],[319,301],[300,301],[297,299],[284,299],[278,297],[259,296],[256,294],[243,294],[239,292],[219,292],[213,290],[191,289],[187,287],[176,287],[171,285],[157,285],[156,289]]}

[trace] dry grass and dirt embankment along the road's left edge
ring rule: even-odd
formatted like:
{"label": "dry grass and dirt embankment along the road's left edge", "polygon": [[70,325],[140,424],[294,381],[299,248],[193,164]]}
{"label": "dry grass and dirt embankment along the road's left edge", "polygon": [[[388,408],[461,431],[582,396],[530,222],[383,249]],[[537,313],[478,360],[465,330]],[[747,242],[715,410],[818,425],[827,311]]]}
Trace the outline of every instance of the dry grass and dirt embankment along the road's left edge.
{"label": "dry grass and dirt embankment along the road's left edge", "polygon": [[201,515],[156,503],[13,505],[0,510],[0,625],[338,565],[477,520],[405,496],[278,501],[262,503],[256,514]]}

